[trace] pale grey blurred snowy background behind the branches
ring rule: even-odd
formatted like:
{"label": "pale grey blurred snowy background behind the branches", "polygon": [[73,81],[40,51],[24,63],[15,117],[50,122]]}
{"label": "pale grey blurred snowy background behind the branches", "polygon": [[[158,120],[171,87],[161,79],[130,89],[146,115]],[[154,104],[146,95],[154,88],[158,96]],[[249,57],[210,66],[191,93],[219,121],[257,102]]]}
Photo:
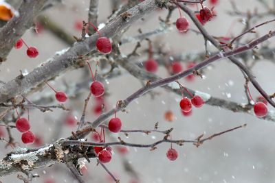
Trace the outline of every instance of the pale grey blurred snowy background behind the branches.
{"label": "pale grey blurred snowy background behind the branches", "polygon": [[[105,23],[108,16],[112,12],[113,0],[99,1],[99,17],[98,23]],[[126,3],[126,1],[121,1]],[[273,1],[256,1],[243,0],[235,1],[237,8],[241,12],[267,12],[274,10]],[[264,5],[267,4],[267,6]],[[210,5],[207,0],[206,5]],[[196,10],[196,6],[192,7]],[[43,12],[43,17],[53,21],[58,26],[62,27],[69,35],[80,37],[81,35],[81,21],[87,21],[87,14],[89,10],[89,0],[74,1],[63,0],[63,3],[58,3],[53,8],[49,8]],[[214,11],[217,16],[204,26],[207,31],[213,36],[236,36],[240,34],[245,27],[245,20],[247,16],[236,16],[229,14],[232,12],[232,5],[230,1],[221,0],[217,5],[214,5]],[[157,10],[144,17],[143,20],[137,21],[124,34],[123,38],[137,36],[138,29],[142,32],[150,32],[160,27],[159,17],[166,18],[167,10]],[[189,17],[182,12],[184,16]],[[175,22],[179,17],[178,10],[173,12],[170,21]],[[250,26],[274,19],[272,14],[255,18],[250,21]],[[80,23],[80,25],[79,25]],[[36,28],[38,26],[36,25]],[[261,36],[273,30],[274,23],[267,24],[259,29],[256,29],[257,35]],[[190,21],[190,29],[196,29],[195,25]],[[243,42],[252,40],[255,34],[249,34],[243,38]],[[34,59],[28,58],[25,54],[25,48],[13,49],[8,56],[8,60],[1,64],[0,80],[8,82],[12,78],[19,75],[21,70],[23,73],[32,71],[39,64],[46,62],[52,58],[56,51],[61,51],[69,47],[61,38],[57,38],[47,30],[46,27],[39,27],[39,33],[34,29],[30,29],[23,35],[23,40],[28,45],[32,45],[39,49],[39,56]],[[171,25],[171,29],[165,34],[159,34],[151,37],[153,41],[153,50],[162,47],[165,51],[173,55],[181,53],[204,53],[203,37],[195,32],[188,31],[186,34],[179,34],[175,25]],[[268,46],[270,49],[274,47],[274,38],[262,44]],[[142,41],[142,48],[139,50],[146,51],[148,42]],[[131,53],[135,43],[130,42],[122,45],[122,53],[124,55]],[[261,47],[261,46],[260,46]],[[208,45],[210,51],[216,51],[212,45]],[[138,52],[139,52],[138,51]],[[273,54],[273,52],[272,52]],[[133,62],[142,62],[146,59],[144,56],[133,59]],[[196,60],[195,60],[196,61]],[[253,57],[248,62],[255,62]],[[256,60],[252,68],[252,72],[256,76],[256,80],[261,84],[265,91],[269,94],[274,93],[274,69],[275,64],[273,60]],[[182,62],[182,66],[186,69],[186,63]],[[65,90],[70,96],[66,101],[65,106],[72,109],[72,114],[80,119],[83,111],[84,100],[89,93],[89,85],[74,93],[72,89],[74,84],[78,84],[83,80],[90,78],[87,68],[80,68],[56,77],[54,82],[50,82],[54,88],[58,90]],[[99,71],[103,72],[103,71]],[[106,71],[105,71],[106,72]],[[117,68],[114,72],[121,72],[122,75],[107,78],[104,80],[104,85],[107,87],[107,95],[104,97],[107,110],[115,107],[116,101],[125,99],[131,95],[135,90],[142,87],[142,84],[135,77],[129,75],[124,69]],[[161,77],[168,77],[168,72],[163,66],[159,67],[157,75]],[[200,90],[209,93],[214,97],[226,99],[228,101],[235,101],[237,103],[247,103],[245,97],[243,84],[245,80],[239,69],[229,60],[219,60],[211,66],[203,70],[205,80],[196,77],[193,81],[181,79],[181,84],[192,88],[193,90]],[[122,87],[123,86],[123,87]],[[259,93],[250,86],[252,96],[254,98],[259,96]],[[153,129],[155,123],[159,122],[159,130],[167,130],[173,127],[173,138],[179,139],[195,139],[200,134],[206,136],[221,132],[228,128],[243,125],[247,123],[247,127],[241,128],[234,132],[224,134],[211,141],[206,141],[199,148],[192,144],[184,144],[184,146],[173,145],[179,153],[179,157],[175,161],[170,161],[166,158],[166,151],[170,147],[169,144],[161,144],[157,146],[154,151],[149,149],[127,148],[127,151],[120,153],[119,149],[113,147],[113,157],[111,162],[106,164],[109,170],[120,179],[120,182],[274,182],[275,179],[275,125],[272,121],[264,121],[256,117],[243,114],[234,113],[229,110],[224,110],[217,107],[204,105],[202,108],[193,108],[192,114],[188,117],[181,114],[179,110],[179,100],[181,97],[173,93],[169,93],[163,88],[154,90],[157,94],[144,95],[136,99],[127,108],[127,112],[118,112],[118,117],[122,120],[123,129]],[[29,95],[28,99],[37,101],[41,97],[52,97],[54,93],[50,88],[45,86],[38,92]],[[55,100],[47,105],[57,104]],[[91,99],[87,110],[87,121],[94,121],[98,114],[94,111],[96,107],[96,99]],[[268,108],[273,110],[269,105]],[[173,122],[168,122],[164,119],[164,113],[167,110],[172,110],[175,119]],[[65,118],[69,112],[65,110],[56,109],[54,112],[41,112],[37,109],[30,110],[30,123],[32,125],[32,132],[39,136],[41,142],[32,145],[23,145],[21,143],[21,134],[17,130],[12,129],[12,135],[15,141],[19,142],[20,147],[37,147],[56,141],[61,137],[67,137],[72,131],[76,130],[76,125],[68,125]],[[23,115],[27,117],[27,114]],[[3,136],[7,136],[5,129],[2,129]],[[124,134],[107,134],[107,141],[115,141],[120,136],[124,141],[131,143],[153,143],[163,136],[159,134],[129,134],[126,137]],[[91,135],[88,136],[91,141]],[[5,143],[0,144],[0,155],[5,156],[12,149],[5,148]],[[91,160],[90,163],[85,162],[86,171],[84,172],[84,179],[86,182],[113,182],[107,172],[102,167],[96,165],[96,160]],[[125,169],[131,167],[132,173]],[[84,170],[83,169],[83,170]],[[133,172],[134,175],[133,175]],[[33,173],[38,173],[40,178],[33,180],[36,182],[74,182],[72,174],[69,172],[65,164],[56,164],[52,167],[43,169],[36,169]],[[22,174],[22,173],[20,173]],[[17,174],[9,175],[0,178],[2,182],[21,182],[18,180]],[[49,183],[49,182],[47,182]]]}

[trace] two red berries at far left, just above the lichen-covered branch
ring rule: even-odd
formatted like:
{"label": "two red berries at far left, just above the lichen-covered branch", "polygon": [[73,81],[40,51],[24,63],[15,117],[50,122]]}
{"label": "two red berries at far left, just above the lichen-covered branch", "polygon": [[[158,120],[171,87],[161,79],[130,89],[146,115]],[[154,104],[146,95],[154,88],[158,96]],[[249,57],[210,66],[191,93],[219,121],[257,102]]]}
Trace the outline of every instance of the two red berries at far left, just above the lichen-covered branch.
{"label": "two red berries at far left, just above the lichen-covered branch", "polygon": [[[17,111],[17,110],[16,110]],[[30,131],[30,122],[28,119],[21,118],[17,112],[18,119],[15,122],[15,127],[19,132],[22,132],[21,140],[24,144],[34,142],[34,134]]]}

